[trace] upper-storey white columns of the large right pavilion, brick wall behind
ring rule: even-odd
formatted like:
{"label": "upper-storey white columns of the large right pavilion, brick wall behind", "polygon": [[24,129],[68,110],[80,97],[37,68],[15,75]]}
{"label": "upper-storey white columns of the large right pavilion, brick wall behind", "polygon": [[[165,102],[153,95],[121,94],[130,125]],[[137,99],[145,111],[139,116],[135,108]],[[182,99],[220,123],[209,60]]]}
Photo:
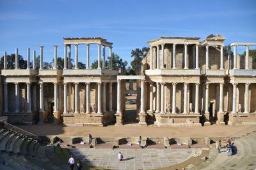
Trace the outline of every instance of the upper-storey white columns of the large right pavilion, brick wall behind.
{"label": "upper-storey white columns of the large right pavilion, brick wall behind", "polygon": [[[176,69],[176,45],[173,44],[173,60],[171,61],[170,65],[172,65],[172,69]],[[156,69],[164,69],[164,44],[161,44],[161,49],[162,49],[162,62],[161,62],[161,67],[159,63],[159,46],[157,45],[157,53],[156,53]],[[196,50],[193,48],[193,56],[196,58],[196,66],[195,69],[199,69],[199,52],[198,52],[198,44],[195,45]],[[205,62],[205,69],[209,69],[209,45],[205,46],[206,48],[206,62]],[[150,69],[153,69],[153,55],[152,55],[152,46],[150,46]],[[188,44],[184,44],[184,69],[188,69]],[[223,45],[220,46],[220,69],[224,69],[223,65]]]}

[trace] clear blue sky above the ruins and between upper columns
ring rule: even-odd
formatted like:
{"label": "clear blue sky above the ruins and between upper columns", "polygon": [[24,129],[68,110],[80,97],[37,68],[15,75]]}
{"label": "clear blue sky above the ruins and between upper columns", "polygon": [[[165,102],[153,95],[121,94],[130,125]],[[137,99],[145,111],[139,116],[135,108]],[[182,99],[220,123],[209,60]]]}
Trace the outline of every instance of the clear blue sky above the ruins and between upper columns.
{"label": "clear blue sky above the ruins and between upper columns", "polygon": [[[0,52],[44,45],[44,60],[51,61],[53,45],[63,57],[63,37],[101,36],[113,42],[113,52],[128,63],[131,50],[148,46],[159,36],[222,34],[225,45],[234,41],[256,42],[256,1],[3,1],[0,0]],[[255,48],[255,47],[252,47]],[[245,47],[239,47],[243,52]],[[108,50],[106,51],[108,53]],[[32,53],[31,53],[32,55]],[[97,46],[90,50],[97,59]],[[72,46],[74,59],[74,46]],[[79,46],[85,62],[86,46]]]}

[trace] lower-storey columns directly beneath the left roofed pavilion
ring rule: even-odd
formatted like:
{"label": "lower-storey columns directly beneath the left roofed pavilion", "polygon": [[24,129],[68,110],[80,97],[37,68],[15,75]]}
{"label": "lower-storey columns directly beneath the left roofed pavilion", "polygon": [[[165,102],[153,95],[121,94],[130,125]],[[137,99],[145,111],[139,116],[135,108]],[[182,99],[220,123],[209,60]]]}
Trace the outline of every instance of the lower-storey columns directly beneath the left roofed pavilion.
{"label": "lower-storey columns directly beneath the left roofed pavilion", "polygon": [[[91,111],[91,101],[90,101],[90,83],[86,84],[86,113],[92,113]],[[63,83],[64,85],[64,114],[68,113],[68,102],[67,102],[67,83]],[[79,83],[74,83],[75,85],[75,110],[74,113],[79,113]],[[112,85],[113,83],[109,83],[109,111],[113,111],[112,105]],[[102,115],[102,113],[106,113],[106,83],[97,83],[97,114]]]}

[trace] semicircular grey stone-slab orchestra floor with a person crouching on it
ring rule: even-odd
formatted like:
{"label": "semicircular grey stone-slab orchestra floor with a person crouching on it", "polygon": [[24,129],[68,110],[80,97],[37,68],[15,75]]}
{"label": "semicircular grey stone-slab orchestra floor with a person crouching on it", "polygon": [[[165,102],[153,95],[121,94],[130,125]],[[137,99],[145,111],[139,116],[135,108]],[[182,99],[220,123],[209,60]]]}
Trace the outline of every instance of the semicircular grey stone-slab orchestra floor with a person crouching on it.
{"label": "semicircular grey stone-slab orchestra floor with a person crouching on it", "polygon": [[[94,149],[70,148],[77,159],[89,166],[111,169],[156,169],[184,162],[191,156],[200,155],[202,148],[188,149]],[[122,152],[124,160],[117,159]]]}

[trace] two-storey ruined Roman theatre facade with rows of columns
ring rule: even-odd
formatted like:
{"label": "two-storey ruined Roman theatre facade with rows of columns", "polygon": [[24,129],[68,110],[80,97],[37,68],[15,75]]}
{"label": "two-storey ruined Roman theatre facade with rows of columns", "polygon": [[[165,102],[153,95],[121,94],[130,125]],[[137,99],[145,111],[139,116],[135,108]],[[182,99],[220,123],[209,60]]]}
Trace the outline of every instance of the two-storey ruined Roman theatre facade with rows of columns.
{"label": "two-storey ruined Roman theatre facade with rows of columns", "polygon": [[[44,124],[52,120],[65,125],[122,125],[125,114],[125,82],[138,80],[137,116],[140,125],[201,126],[210,124],[256,124],[256,62],[249,47],[256,43],[232,43],[223,50],[219,34],[200,38],[161,37],[147,41],[150,51],[141,64],[141,74],[126,76],[113,70],[109,56],[112,43],[104,38],[64,38],[64,68],[8,69],[6,52],[0,86],[2,115],[8,121]],[[98,68],[90,68],[90,45],[98,46]],[[246,57],[237,46],[246,47]],[[71,47],[75,56],[71,56]],[[86,46],[86,69],[78,67],[78,48]],[[233,48],[233,49],[232,49]],[[233,51],[233,52],[232,52]],[[35,51],[33,55],[35,61]],[[74,68],[70,60],[75,60]],[[1,109],[0,106],[0,109]],[[2,111],[1,110],[1,111]]]}

